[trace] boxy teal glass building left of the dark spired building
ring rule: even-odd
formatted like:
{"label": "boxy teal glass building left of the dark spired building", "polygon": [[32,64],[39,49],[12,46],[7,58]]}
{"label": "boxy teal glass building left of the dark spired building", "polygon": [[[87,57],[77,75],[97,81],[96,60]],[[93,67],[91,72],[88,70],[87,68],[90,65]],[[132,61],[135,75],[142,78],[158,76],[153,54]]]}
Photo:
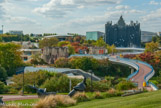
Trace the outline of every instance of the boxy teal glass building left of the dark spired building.
{"label": "boxy teal glass building left of the dark spired building", "polygon": [[97,41],[100,37],[104,38],[104,33],[100,31],[91,31],[86,32],[86,40],[95,40]]}

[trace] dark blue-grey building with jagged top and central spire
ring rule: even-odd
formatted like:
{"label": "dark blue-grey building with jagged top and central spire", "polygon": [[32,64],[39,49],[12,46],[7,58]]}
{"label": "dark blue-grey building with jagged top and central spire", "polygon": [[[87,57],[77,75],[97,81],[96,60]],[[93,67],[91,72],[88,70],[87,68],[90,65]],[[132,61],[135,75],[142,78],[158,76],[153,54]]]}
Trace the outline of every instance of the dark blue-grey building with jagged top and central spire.
{"label": "dark blue-grey building with jagged top and central spire", "polygon": [[141,30],[140,23],[131,21],[127,25],[120,17],[117,24],[112,21],[105,24],[105,42],[109,45],[114,44],[116,47],[140,47]]}

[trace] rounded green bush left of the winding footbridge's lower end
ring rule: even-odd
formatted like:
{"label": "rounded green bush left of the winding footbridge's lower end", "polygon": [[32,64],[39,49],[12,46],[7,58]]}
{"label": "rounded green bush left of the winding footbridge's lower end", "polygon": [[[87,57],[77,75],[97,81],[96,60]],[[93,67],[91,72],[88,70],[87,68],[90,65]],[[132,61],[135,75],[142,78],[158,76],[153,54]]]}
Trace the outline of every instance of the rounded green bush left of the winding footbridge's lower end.
{"label": "rounded green bush left of the winding footbridge's lower end", "polygon": [[130,81],[121,81],[116,85],[117,90],[129,90],[135,88],[134,84]]}

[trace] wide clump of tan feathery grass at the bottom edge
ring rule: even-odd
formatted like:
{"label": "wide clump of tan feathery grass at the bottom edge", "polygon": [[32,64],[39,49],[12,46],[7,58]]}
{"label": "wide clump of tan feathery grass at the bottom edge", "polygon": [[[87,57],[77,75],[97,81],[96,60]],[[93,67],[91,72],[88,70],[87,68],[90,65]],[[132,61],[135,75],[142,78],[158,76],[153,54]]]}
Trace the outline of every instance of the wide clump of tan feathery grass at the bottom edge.
{"label": "wide clump of tan feathery grass at the bottom edge", "polygon": [[63,95],[50,95],[41,99],[34,107],[35,108],[56,108],[56,107],[64,107],[64,106],[72,106],[75,105],[76,101],[69,96]]}

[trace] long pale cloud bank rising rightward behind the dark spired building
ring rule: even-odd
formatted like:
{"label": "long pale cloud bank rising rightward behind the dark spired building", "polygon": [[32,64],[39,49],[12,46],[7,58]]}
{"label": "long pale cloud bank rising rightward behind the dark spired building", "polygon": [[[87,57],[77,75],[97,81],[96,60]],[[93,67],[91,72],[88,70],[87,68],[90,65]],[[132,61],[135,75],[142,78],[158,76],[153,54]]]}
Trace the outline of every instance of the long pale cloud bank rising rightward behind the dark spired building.
{"label": "long pale cloud bank rising rightward behind the dark spired building", "polygon": [[[112,9],[112,8],[111,8]],[[136,20],[133,16],[137,16],[138,14],[142,14],[142,11],[135,9],[127,9],[124,10],[108,10],[103,15],[88,15],[77,19],[69,20],[68,22],[56,24],[52,27],[52,30],[59,31],[60,33],[63,29],[63,32],[70,32],[70,30],[78,33],[84,34],[86,31],[104,31],[104,25],[107,21],[113,21],[116,23],[123,14],[125,21],[128,23],[130,20]],[[128,21],[127,21],[128,20]],[[81,31],[81,32],[80,32]]]}

